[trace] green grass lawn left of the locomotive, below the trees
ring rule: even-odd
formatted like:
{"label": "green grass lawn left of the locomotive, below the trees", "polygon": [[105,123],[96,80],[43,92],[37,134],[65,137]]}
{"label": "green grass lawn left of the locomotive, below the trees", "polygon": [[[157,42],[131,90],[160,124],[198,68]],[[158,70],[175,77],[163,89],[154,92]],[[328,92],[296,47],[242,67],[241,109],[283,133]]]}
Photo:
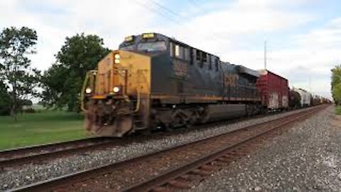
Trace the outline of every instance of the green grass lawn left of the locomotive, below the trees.
{"label": "green grass lawn left of the locomotive, below the trees", "polygon": [[41,110],[0,117],[0,150],[85,138],[81,114]]}

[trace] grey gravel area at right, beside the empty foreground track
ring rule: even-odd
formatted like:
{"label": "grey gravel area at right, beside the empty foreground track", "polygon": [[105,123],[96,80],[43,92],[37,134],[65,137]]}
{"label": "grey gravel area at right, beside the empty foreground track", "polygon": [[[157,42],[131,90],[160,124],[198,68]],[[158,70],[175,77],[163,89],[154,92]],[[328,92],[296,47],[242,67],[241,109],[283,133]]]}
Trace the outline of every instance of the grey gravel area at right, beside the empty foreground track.
{"label": "grey gravel area at right, beside the empty foreground track", "polygon": [[333,112],[294,125],[191,191],[340,191],[341,117]]}

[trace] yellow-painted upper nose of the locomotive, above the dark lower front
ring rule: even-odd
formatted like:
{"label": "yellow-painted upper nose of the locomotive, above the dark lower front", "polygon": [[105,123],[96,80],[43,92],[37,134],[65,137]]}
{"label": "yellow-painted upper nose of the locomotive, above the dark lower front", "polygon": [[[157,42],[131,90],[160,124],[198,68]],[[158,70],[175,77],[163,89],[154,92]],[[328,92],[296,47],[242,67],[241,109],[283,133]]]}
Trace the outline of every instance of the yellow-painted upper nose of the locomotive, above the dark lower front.
{"label": "yellow-painted upper nose of the locomotive, above the dark lower front", "polygon": [[[114,63],[114,55],[119,55],[119,63]],[[126,50],[115,50],[98,63],[95,95],[115,95],[114,87],[119,87],[124,95],[150,93],[151,58]],[[94,96],[95,98],[95,96]]]}

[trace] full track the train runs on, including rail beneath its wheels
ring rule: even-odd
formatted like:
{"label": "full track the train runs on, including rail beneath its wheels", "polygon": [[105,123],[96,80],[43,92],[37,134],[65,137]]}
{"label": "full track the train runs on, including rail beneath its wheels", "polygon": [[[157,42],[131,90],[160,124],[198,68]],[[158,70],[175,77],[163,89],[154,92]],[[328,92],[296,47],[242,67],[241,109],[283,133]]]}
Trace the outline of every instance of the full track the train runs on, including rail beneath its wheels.
{"label": "full track the train runs on, including rail beneath its wheels", "polygon": [[[274,115],[278,113],[273,113],[269,115]],[[268,116],[269,116],[268,115]],[[241,119],[232,119],[222,122],[210,122],[207,124],[202,124],[199,127],[191,127],[189,129],[175,129],[173,132],[158,132],[154,133],[153,137],[168,137],[174,134],[180,134],[183,132],[191,132],[193,129],[205,129],[212,126],[219,126],[223,124],[230,124],[234,122],[242,122],[248,119],[257,119],[265,117],[264,114],[259,114],[254,117],[244,117]],[[80,154],[84,151],[91,151],[95,149],[106,149],[109,146],[122,146],[124,144],[129,144],[131,142],[144,142],[147,139],[151,139],[151,137],[146,136],[131,136],[127,137],[124,140],[118,138],[110,138],[110,137],[94,137],[87,139],[78,139],[70,142],[60,142],[60,143],[51,143],[51,144],[43,144],[36,146],[28,146],[18,149],[9,149],[0,151],[0,170],[13,169],[13,167],[22,166],[23,164],[41,164],[46,163],[49,160],[53,160],[55,158],[61,156],[67,156],[72,154]]]}

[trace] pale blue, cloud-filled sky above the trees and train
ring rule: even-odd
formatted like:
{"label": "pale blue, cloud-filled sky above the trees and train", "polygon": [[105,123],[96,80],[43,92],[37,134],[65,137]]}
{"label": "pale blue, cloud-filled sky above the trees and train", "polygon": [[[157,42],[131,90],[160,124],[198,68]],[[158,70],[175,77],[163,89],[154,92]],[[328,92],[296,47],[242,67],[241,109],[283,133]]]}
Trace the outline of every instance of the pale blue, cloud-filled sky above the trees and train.
{"label": "pale blue, cloud-filled sky above the trees and train", "polygon": [[282,75],[291,87],[331,97],[330,70],[341,63],[337,0],[2,0],[0,29],[37,31],[32,65],[47,70],[65,38],[96,34],[115,50],[124,37],[163,33],[224,61]]}

